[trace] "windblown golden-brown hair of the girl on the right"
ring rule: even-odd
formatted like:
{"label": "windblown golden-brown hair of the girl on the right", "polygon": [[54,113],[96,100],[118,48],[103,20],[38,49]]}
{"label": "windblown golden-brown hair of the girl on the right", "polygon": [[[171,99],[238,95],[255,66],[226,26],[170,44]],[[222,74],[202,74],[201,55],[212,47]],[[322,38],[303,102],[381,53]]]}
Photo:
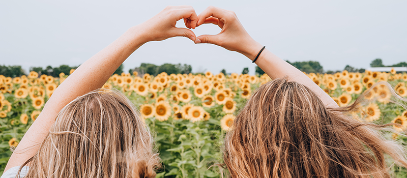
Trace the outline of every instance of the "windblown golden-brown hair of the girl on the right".
{"label": "windblown golden-brown hair of the girl on the right", "polygon": [[385,154],[407,167],[404,149],[378,131],[389,125],[327,108],[310,88],[276,79],[253,94],[224,141],[230,177],[390,177]]}

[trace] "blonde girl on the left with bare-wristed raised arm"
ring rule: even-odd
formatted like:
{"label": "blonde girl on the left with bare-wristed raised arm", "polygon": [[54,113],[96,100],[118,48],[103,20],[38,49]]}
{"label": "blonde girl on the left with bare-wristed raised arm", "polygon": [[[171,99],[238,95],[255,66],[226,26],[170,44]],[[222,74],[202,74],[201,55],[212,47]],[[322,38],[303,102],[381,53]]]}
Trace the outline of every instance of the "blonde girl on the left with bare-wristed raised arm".
{"label": "blonde girl on the left with bare-wristed raised arm", "polygon": [[136,108],[119,92],[97,89],[144,43],[176,36],[194,41],[190,29],[175,26],[181,19],[195,28],[192,7],[167,7],[80,65],[53,92],[2,178],[155,177],[161,164]]}

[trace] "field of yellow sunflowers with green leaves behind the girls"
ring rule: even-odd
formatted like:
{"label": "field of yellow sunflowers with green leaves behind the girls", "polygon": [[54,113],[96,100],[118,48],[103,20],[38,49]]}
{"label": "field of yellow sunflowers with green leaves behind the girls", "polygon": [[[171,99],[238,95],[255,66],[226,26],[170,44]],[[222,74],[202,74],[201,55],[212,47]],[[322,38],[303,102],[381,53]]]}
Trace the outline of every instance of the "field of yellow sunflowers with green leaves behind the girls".
{"label": "field of yellow sunflowers with green leaves behind the girls", "polygon": [[[73,70],[71,70],[71,73]],[[358,112],[352,113],[361,122],[376,124],[398,123],[407,127],[407,111],[390,102],[392,90],[380,81],[390,83],[396,94],[407,96],[407,74],[386,72],[306,74],[339,106],[353,103],[361,94],[375,98]],[[16,78],[0,75],[0,174],[24,133],[68,75],[41,75],[32,71]],[[161,73],[113,75],[103,86],[116,88],[139,109],[140,116],[150,127],[163,162],[157,177],[220,177],[222,144],[239,110],[253,91],[270,81],[265,75],[236,74],[171,74]],[[373,87],[373,88],[372,88]],[[368,93],[365,91],[369,88]],[[401,131],[403,128],[395,127]],[[407,143],[401,134],[383,132],[389,139]],[[389,162],[389,165],[392,162]],[[407,174],[393,165],[392,177]]]}

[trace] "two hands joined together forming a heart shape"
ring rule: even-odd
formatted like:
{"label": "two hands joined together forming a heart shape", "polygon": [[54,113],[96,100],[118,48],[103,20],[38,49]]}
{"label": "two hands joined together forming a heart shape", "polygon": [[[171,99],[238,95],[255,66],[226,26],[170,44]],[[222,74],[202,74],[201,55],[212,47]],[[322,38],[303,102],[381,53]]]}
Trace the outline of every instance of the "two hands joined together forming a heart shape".
{"label": "two hands joined together forming a heart shape", "polygon": [[[187,28],[178,28],[178,20],[184,19]],[[222,28],[217,35],[201,35],[196,37],[190,30],[204,23],[212,23]],[[168,6],[159,14],[140,24],[144,28],[147,41],[160,41],[167,38],[183,36],[195,43],[211,43],[231,51],[237,51],[253,59],[263,47],[254,41],[240,23],[235,12],[210,6],[196,15],[191,6]],[[189,29],[188,29],[189,28]]]}

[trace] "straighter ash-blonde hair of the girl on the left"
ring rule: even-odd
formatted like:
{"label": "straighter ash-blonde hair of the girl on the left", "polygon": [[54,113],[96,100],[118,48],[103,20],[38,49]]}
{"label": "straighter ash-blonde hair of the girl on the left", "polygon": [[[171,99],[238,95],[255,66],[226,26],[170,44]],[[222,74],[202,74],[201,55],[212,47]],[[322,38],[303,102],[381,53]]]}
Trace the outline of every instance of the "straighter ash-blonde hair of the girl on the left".
{"label": "straighter ash-blonde hair of the girl on the left", "polygon": [[24,165],[30,166],[27,178],[155,177],[161,166],[136,108],[110,90],[93,91],[66,105]]}

